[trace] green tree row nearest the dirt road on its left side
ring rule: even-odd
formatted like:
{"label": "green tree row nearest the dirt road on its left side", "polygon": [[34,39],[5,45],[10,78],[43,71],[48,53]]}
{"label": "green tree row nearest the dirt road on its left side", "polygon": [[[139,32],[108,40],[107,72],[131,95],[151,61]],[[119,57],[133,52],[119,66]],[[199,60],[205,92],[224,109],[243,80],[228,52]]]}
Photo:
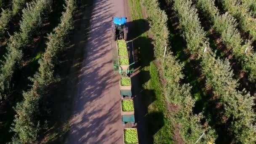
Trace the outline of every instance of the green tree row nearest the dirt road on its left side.
{"label": "green tree row nearest the dirt road on its left side", "polygon": [[49,85],[56,81],[54,66],[57,54],[64,50],[64,42],[73,29],[72,16],[75,11],[75,1],[66,0],[66,5],[66,12],[62,13],[60,24],[54,29],[53,33],[48,35],[47,48],[43,58],[39,61],[39,70],[31,78],[32,88],[24,92],[24,100],[15,107],[17,114],[12,128],[12,131],[15,132],[12,142],[14,144],[35,143],[38,137],[38,131],[40,130],[40,125],[38,125],[40,118],[37,117],[40,115],[38,103],[40,98],[46,94]]}

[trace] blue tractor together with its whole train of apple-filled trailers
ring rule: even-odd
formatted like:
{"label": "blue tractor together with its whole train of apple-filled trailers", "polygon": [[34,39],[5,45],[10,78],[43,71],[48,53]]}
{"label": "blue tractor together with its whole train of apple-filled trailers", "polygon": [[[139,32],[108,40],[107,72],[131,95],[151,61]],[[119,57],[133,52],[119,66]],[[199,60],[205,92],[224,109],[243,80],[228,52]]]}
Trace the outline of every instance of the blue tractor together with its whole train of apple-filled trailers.
{"label": "blue tractor together with its whole train of apple-filled trailers", "polygon": [[[128,27],[126,25],[125,17],[112,18],[112,50],[113,50],[113,71],[114,74],[120,74],[120,94],[121,101],[121,115],[122,123],[132,123],[133,126],[124,128],[123,143],[124,144],[139,144],[137,128],[134,128],[134,105],[131,99],[131,74],[134,73],[134,53],[133,41],[126,41],[128,34]],[[124,99],[124,96],[128,96]]]}

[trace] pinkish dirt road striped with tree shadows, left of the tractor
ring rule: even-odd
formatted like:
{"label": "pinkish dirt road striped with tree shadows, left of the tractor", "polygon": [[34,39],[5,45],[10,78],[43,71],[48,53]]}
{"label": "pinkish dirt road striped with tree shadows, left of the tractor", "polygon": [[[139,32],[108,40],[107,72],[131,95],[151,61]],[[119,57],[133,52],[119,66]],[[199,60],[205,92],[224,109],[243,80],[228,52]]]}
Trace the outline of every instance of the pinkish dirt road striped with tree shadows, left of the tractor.
{"label": "pinkish dirt road striped with tree shadows, left of the tractor", "polygon": [[94,0],[67,144],[123,143],[119,77],[113,74],[110,42],[111,17],[126,16],[126,3]]}

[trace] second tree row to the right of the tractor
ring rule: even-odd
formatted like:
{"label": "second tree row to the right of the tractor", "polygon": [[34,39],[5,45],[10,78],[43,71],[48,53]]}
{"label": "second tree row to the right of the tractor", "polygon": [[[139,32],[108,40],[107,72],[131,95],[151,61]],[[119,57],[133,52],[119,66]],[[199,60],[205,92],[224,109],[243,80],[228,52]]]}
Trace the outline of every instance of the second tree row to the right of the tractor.
{"label": "second tree row to the right of the tractor", "polygon": [[206,78],[206,84],[217,96],[216,101],[223,106],[224,113],[218,124],[221,124],[221,118],[227,118],[229,121],[225,123],[227,131],[235,137],[235,141],[244,144],[255,143],[256,139],[253,135],[256,134],[254,125],[256,115],[252,109],[253,97],[244,91],[236,90],[238,84],[237,80],[232,78],[234,74],[229,61],[215,58],[192,1],[175,0],[173,9],[179,18],[187,48],[191,54],[196,54],[201,59],[201,72]]}

